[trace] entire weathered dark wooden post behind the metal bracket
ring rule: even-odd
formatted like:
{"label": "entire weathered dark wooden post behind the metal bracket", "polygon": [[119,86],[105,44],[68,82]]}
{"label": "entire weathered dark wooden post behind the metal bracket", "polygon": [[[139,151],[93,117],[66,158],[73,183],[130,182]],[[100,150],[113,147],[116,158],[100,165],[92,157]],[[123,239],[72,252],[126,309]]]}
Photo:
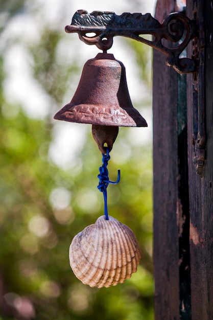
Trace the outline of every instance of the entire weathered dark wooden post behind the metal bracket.
{"label": "entire weathered dark wooden post behind the metal bracket", "polygon": [[[162,22],[177,8],[174,0],[158,0],[155,16]],[[200,93],[205,90],[205,102],[200,99],[198,104],[205,103],[206,161],[200,176],[195,167],[195,78],[177,74],[165,65],[164,56],[154,51],[155,320],[213,319],[212,2],[188,0],[186,15],[191,19],[201,15],[204,20],[205,77],[199,73],[198,85],[203,86]],[[204,47],[201,42],[200,48]],[[191,44],[187,56],[192,54]],[[203,65],[199,68],[201,71]]]}

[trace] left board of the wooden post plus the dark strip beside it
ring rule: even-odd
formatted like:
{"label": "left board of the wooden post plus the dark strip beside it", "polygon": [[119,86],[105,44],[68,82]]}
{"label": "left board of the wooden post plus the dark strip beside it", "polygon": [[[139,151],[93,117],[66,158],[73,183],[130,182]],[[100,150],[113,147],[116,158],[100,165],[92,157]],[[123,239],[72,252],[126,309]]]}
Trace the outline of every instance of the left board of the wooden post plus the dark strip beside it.
{"label": "left board of the wooden post plus the dark strip beside it", "polygon": [[[158,1],[160,21],[177,11]],[[191,319],[186,76],[153,53],[155,319]]]}

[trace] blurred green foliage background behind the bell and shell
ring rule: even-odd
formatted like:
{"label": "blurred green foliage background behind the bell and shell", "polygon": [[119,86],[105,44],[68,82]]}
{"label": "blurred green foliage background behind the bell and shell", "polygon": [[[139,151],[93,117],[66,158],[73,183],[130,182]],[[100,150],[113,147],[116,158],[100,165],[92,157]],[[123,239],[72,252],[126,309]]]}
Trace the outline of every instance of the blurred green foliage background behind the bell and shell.
{"label": "blurred green foliage background behind the bell and shell", "polygon": [[[23,1],[2,4],[8,19],[25,11]],[[45,27],[34,45],[25,43],[34,78],[58,106],[78,70],[75,61],[58,59],[60,39],[60,33]],[[51,161],[52,113],[31,119],[21,105],[7,101],[6,55],[2,48],[0,320],[152,320],[151,147],[131,144],[130,129],[121,128],[108,166],[110,179],[116,179],[117,168],[122,173],[120,184],[108,187],[109,214],[136,234],[142,256],[138,271],[115,287],[83,285],[70,269],[68,248],[103,214],[103,195],[96,188],[102,155],[89,133],[78,162],[65,170]]]}

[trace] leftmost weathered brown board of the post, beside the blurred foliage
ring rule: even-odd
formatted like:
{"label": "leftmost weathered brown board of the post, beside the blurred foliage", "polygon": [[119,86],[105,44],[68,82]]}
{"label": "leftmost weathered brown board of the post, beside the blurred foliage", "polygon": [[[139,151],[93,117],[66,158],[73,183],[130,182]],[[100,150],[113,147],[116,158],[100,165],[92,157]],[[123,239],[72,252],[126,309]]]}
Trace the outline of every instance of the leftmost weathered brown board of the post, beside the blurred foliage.
{"label": "leftmost weathered brown board of the post, beside the blurred foliage", "polygon": [[[158,1],[162,22],[174,1]],[[153,53],[153,193],[155,320],[179,319],[177,73]]]}

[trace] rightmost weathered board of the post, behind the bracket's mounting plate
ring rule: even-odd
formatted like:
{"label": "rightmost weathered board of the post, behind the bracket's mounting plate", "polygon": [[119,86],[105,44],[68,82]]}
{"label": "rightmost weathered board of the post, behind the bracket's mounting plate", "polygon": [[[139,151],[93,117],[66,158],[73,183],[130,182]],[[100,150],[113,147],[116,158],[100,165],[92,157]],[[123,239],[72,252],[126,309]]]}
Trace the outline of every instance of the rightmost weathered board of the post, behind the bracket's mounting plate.
{"label": "rightmost weathered board of the post, behind the bracket's mounting plate", "polygon": [[[194,5],[199,8],[201,2],[187,2],[187,15],[192,17]],[[195,173],[193,141],[193,92],[192,75],[187,79],[188,105],[188,170],[190,193],[190,251],[192,281],[192,319],[213,319],[213,10],[211,1],[204,2],[204,21],[206,31],[205,54],[205,125],[206,125],[206,162],[203,178]],[[188,53],[192,52],[188,48]]]}

